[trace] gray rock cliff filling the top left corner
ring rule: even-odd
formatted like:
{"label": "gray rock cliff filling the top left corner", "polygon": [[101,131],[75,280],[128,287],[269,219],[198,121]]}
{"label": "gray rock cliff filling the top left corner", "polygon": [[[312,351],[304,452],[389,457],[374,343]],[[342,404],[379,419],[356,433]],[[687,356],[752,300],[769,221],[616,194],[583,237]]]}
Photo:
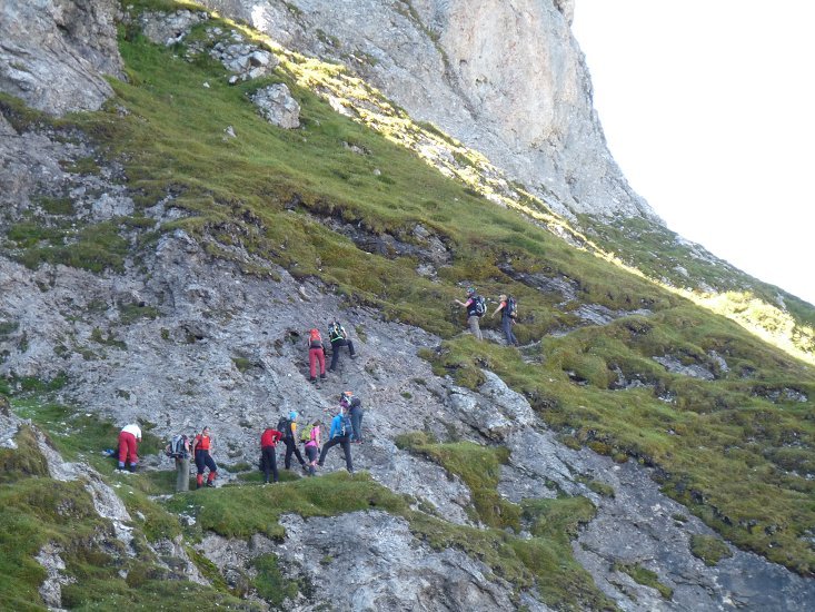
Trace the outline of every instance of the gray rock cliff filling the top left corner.
{"label": "gray rock cliff filling the top left corner", "polygon": [[96,110],[122,77],[116,0],[37,0],[0,6],[0,90],[52,115]]}

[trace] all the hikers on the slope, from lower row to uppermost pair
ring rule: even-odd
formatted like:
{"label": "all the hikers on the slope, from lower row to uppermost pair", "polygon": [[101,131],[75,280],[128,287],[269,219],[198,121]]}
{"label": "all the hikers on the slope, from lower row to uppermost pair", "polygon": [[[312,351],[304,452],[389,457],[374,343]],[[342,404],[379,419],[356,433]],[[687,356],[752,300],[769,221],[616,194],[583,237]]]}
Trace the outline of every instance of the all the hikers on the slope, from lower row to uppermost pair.
{"label": "all the hikers on the slope, from lower row to uppermost pair", "polygon": [[[467,289],[467,298],[465,302],[458,299],[456,304],[467,309],[467,324],[473,335],[483,338],[479,325],[480,318],[487,313],[486,299],[478,295],[474,287]],[[513,333],[513,326],[517,318],[518,306],[516,300],[508,295],[499,296],[498,307],[493,312],[491,317],[500,313],[501,329],[507,344],[517,346],[518,340]],[[339,349],[344,346],[348,347],[351,358],[356,358],[357,354],[354,349],[354,343],[348,337],[342,325],[336,318],[328,322],[328,339],[331,346],[331,364],[328,372],[335,372],[339,364]],[[308,361],[309,361],[309,381],[317,382],[319,377],[326,378],[326,345],[322,342],[319,329],[312,328],[308,335]],[[354,474],[354,462],[351,458],[351,444],[362,443],[362,405],[359,397],[356,397],[350,391],[344,392],[339,399],[339,406],[336,408],[334,418],[331,419],[330,430],[328,432],[328,441],[322,440],[322,422],[318,418],[310,424],[306,424],[301,428],[298,438],[298,417],[297,411],[291,411],[288,417],[281,416],[277,427],[266,427],[260,434],[260,471],[264,473],[264,484],[278,482],[279,473],[277,468],[277,444],[282,442],[286,446],[284,455],[284,465],[286,470],[291,467],[291,457],[294,456],[302,470],[310,476],[316,475],[317,466],[322,466],[326,454],[334,446],[340,445],[345,455],[346,468]],[[297,447],[297,444],[304,444],[304,452],[307,458]],[[137,424],[130,424],[122,427],[119,433],[119,470],[129,470],[135,472],[138,466],[138,443],[141,442],[141,428]],[[198,488],[202,486],[215,486],[215,480],[218,474],[218,465],[215,463],[210,451],[212,450],[212,438],[209,427],[203,427],[201,433],[196,434],[191,438],[186,435],[173,436],[170,444],[167,445],[166,453],[176,460],[176,468],[178,473],[177,490],[187,491],[189,488],[189,458],[195,460],[197,475],[196,484]],[[308,461],[307,461],[308,460]],[[203,474],[208,471],[205,484]]]}

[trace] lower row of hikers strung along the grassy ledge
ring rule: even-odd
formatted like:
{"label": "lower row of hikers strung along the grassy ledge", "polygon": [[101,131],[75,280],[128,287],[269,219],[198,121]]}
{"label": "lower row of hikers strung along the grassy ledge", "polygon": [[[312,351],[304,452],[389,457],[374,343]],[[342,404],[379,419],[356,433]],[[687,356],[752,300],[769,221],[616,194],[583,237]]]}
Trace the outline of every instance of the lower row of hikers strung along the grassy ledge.
{"label": "lower row of hikers strung along the grassy ledge", "polygon": [[[354,474],[354,461],[351,458],[351,444],[362,444],[362,403],[352,392],[346,391],[340,395],[339,406],[335,411],[331,426],[328,432],[328,441],[322,443],[322,422],[318,418],[306,425],[301,434],[297,435],[298,417],[297,411],[291,411],[288,416],[281,416],[277,427],[267,427],[260,434],[260,471],[264,473],[264,484],[278,482],[277,468],[277,444],[282,442],[286,446],[284,465],[286,470],[291,467],[291,457],[300,463],[302,470],[310,476],[317,474],[317,466],[322,466],[326,454],[334,446],[340,445],[346,461],[346,470]],[[308,461],[297,447],[298,441],[304,444],[304,451]],[[119,470],[136,472],[138,467],[138,443],[141,442],[141,428],[137,424],[129,424],[119,432]],[[189,460],[193,458],[196,464],[196,485],[215,486],[218,475],[218,465],[215,463],[210,451],[212,450],[212,437],[209,427],[203,427],[201,433],[192,437],[176,435],[165,448],[165,453],[176,460],[177,491],[189,490]],[[205,483],[203,475],[207,472]]]}

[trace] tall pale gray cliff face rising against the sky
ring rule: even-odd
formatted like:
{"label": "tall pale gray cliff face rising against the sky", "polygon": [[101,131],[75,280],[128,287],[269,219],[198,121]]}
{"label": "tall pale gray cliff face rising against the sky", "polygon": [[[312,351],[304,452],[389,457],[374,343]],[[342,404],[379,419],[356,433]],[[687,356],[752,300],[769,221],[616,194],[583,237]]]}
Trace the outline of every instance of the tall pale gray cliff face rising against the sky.
{"label": "tall pale gray cliff face rising against the sky", "polygon": [[483,151],[554,210],[645,216],[592,107],[553,0],[207,0],[287,47],[344,62],[415,118]]}

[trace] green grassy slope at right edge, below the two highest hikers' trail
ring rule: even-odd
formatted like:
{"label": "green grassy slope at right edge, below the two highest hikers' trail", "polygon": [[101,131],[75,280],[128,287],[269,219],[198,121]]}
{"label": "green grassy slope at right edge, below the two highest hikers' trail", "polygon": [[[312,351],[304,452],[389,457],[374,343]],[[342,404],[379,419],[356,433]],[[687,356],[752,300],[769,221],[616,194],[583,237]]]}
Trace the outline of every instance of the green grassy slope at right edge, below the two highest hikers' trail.
{"label": "green grassy slope at right edge, below the two highest hikers' trail", "polygon": [[[692,363],[715,349],[732,367],[710,382],[654,367],[652,356],[677,347]],[[753,393],[756,381],[772,379],[775,388],[806,389],[813,397],[808,367],[690,306],[545,338],[539,354],[541,363],[525,363],[517,352],[461,337],[423,355],[434,372],[470,387],[480,384],[480,368],[489,367],[573,445],[660,467],[664,491],[727,540],[812,574],[815,551],[805,536],[815,521],[808,501],[815,484],[807,477],[815,452],[812,403],[782,407]],[[626,376],[639,373],[649,386],[614,391],[596,381],[576,384],[565,355],[580,354]],[[747,365],[749,379],[738,374]],[[664,399],[672,395],[673,401]]]}

